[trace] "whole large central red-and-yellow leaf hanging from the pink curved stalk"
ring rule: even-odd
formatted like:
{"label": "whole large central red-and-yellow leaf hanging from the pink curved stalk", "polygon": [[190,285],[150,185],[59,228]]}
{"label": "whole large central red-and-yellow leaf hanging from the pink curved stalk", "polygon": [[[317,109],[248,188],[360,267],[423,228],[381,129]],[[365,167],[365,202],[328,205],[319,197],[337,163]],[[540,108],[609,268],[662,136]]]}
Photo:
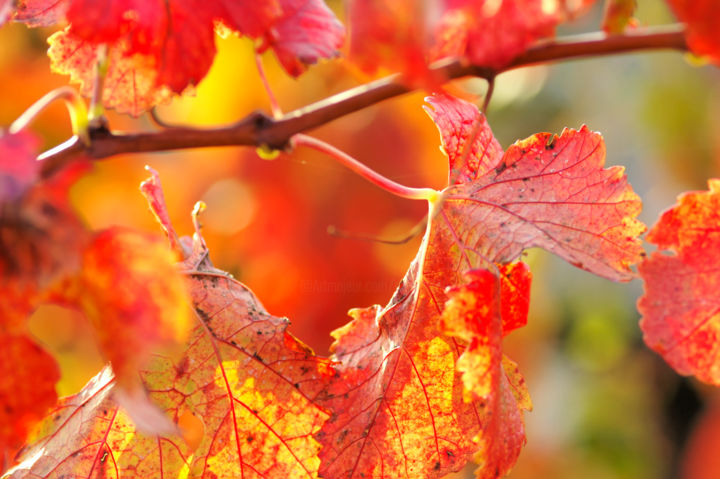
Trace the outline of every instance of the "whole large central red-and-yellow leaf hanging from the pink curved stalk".
{"label": "whole large central red-and-yellow leaf hanging from the pink curved stalk", "polygon": [[[522,394],[513,402],[494,391],[501,399],[489,405],[462,400],[453,370],[466,340],[443,331],[440,319],[446,288],[463,284],[467,270],[497,272],[495,263],[539,246],[600,276],[629,280],[630,265],[641,259],[640,201],[622,168],[602,168],[599,134],[586,127],[541,133],[503,154],[474,105],[444,94],[429,101],[451,184],[431,207],[420,251],[389,304],[353,310],[353,320],[333,333],[339,377],[321,398],[331,412],[317,435],[321,476],[440,477],[475,455],[488,415],[503,417],[493,427],[519,437]],[[487,348],[499,348],[500,339]],[[516,368],[510,371],[508,383],[521,384]],[[508,404],[515,410],[497,410]],[[514,452],[503,451],[520,442],[483,447],[480,477],[494,477],[495,465],[507,470]]]}

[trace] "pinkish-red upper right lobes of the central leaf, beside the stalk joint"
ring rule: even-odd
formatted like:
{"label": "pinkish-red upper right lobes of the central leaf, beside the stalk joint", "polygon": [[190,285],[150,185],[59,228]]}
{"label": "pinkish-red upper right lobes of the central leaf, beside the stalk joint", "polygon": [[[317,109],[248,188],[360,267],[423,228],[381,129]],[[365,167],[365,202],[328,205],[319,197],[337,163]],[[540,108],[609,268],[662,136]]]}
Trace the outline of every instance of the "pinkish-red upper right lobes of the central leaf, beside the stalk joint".
{"label": "pinkish-red upper right lobes of the central leaf, beside the stalk joint", "polygon": [[[645,226],[635,219],[641,202],[622,167],[603,169],[600,134],[585,126],[566,129],[560,136],[538,133],[517,141],[501,156],[494,145],[487,146],[492,132],[474,106],[448,95],[428,101],[443,138],[457,138],[459,145],[474,138],[468,156],[475,151],[483,155],[468,159],[465,170],[458,170],[458,182],[444,191],[439,214],[446,225],[443,248],[459,248],[468,267],[474,258],[488,267],[513,261],[526,248],[541,247],[608,279],[632,278],[630,265],[643,254],[638,236]],[[468,121],[468,108],[480,124],[477,132],[475,122]],[[457,112],[462,115],[449,122],[455,130],[446,131],[448,120],[438,118]],[[448,151],[451,164],[465,154],[460,151]]]}

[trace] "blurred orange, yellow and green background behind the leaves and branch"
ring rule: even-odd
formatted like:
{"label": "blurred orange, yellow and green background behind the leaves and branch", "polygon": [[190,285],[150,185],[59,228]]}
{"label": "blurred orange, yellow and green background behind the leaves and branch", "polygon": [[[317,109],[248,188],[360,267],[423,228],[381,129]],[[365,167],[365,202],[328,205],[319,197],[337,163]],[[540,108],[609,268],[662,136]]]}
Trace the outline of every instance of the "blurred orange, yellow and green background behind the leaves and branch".
{"label": "blurred orange, yellow and green background behind the leaves and branch", "polygon": [[[602,2],[600,2],[602,3]],[[641,25],[673,22],[660,0],[639,2]],[[331,2],[344,18],[340,2]],[[602,6],[561,34],[599,28]],[[66,84],[45,56],[51,30],[0,29],[0,125]],[[219,54],[195,96],[159,108],[171,123],[220,125],[255,109],[268,110],[253,62],[253,44],[217,40]],[[344,60],[326,62],[294,80],[271,55],[263,57],[285,111],[363,83]],[[482,93],[484,82],[457,86]],[[348,115],[312,132],[388,177],[409,186],[441,188],[445,158],[424,93]],[[116,130],[152,130],[109,112]],[[653,224],[677,194],[704,189],[720,172],[720,70],[674,52],[593,58],[517,70],[497,79],[489,120],[505,147],[540,131],[587,124],[603,133],[608,164],[625,165],[644,200],[641,219]],[[70,135],[62,105],[33,125],[49,148]],[[384,304],[419,245],[340,238],[399,239],[422,219],[425,205],[395,198],[319,153],[299,149],[260,159],[252,148],[117,156],[95,165],[72,200],[93,228],[124,225],[159,232],[138,184],[145,165],[160,172],[170,214],[183,234],[190,211],[202,216],[215,265],[253,289],[266,308],[292,320],[292,332],[327,353],[329,332],[352,307]],[[716,389],[672,372],[642,342],[635,301],[639,281],[614,284],[531,251],[535,281],[529,324],[506,350],[526,375],[535,409],[526,415],[528,444],[513,479],[720,478],[720,397]],[[81,318],[43,307],[33,332],[59,358],[61,394],[71,394],[102,366]],[[472,477],[472,467],[456,477]]]}

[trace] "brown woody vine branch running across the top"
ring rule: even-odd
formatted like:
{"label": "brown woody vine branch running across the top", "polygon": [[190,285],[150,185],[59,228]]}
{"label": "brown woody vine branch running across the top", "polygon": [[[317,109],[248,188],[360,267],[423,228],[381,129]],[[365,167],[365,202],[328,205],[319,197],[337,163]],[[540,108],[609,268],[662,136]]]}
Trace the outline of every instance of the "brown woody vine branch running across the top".
{"label": "brown woody vine branch running across the top", "polygon": [[[538,63],[660,49],[687,50],[684,28],[671,25],[626,35],[606,36],[598,32],[565,37],[530,48],[502,69],[477,67],[460,61],[439,63],[432,69],[448,80],[466,76],[493,78],[503,71]],[[111,133],[106,129],[94,130],[91,131],[90,146],[86,147],[77,139],[71,139],[43,153],[40,156],[44,160],[43,175],[51,175],[80,153],[99,159],[120,153],[228,145],[267,145],[285,149],[290,138],[297,133],[412,91],[401,80],[400,75],[392,75],[333,95],[277,119],[253,112],[234,125],[212,129],[171,128],[130,134]]]}

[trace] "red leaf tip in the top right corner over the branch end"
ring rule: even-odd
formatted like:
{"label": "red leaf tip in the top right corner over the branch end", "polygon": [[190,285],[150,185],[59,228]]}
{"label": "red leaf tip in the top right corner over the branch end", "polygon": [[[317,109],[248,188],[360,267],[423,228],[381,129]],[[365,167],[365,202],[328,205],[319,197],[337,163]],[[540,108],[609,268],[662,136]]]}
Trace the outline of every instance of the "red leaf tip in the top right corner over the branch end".
{"label": "red leaf tip in the top right corner over the branch end", "polygon": [[714,0],[668,0],[668,3],[687,25],[685,38],[690,50],[720,63],[720,4]]}

